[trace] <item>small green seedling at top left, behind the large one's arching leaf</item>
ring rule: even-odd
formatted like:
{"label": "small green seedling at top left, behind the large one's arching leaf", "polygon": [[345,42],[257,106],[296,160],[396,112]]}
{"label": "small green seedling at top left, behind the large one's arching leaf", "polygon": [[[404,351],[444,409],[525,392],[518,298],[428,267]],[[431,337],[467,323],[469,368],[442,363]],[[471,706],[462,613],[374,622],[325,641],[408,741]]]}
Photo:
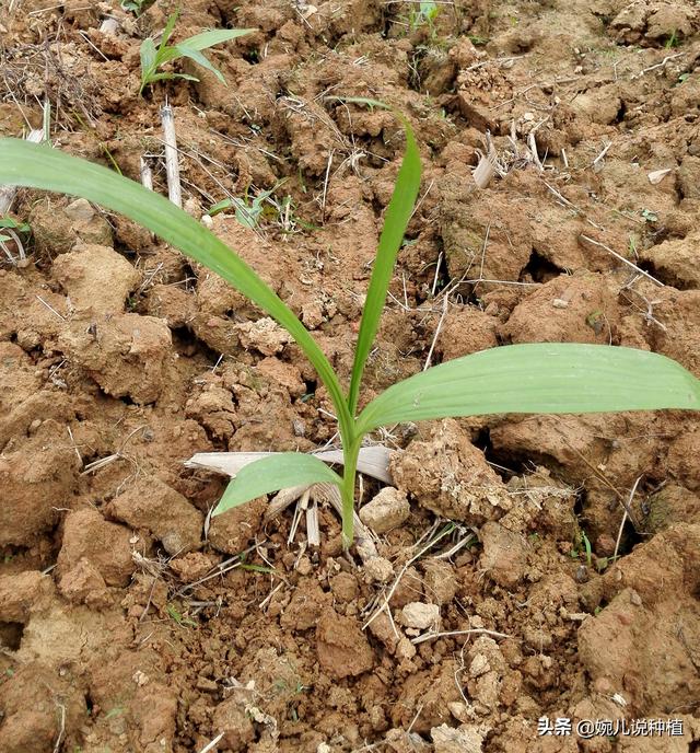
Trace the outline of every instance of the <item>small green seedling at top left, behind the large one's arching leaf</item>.
{"label": "small green seedling at top left, behind the large one's arching leaf", "polygon": [[184,42],[179,42],[176,45],[168,45],[171,36],[173,35],[173,30],[177,22],[177,13],[168,16],[165,28],[161,33],[161,43],[155,46],[155,42],[152,37],[147,37],[141,43],[141,89],[139,89],[139,94],[143,94],[143,90],[156,81],[163,81],[165,79],[186,79],[187,81],[199,81],[195,76],[189,76],[188,73],[173,73],[160,71],[160,68],[166,62],[172,62],[178,58],[189,58],[194,60],[198,66],[206,68],[211,71],[221,83],[226,83],[223,74],[218,68],[214,68],[208,58],[202,55],[203,49],[209,49],[214,45],[219,45],[222,42],[229,42],[230,39],[236,39],[240,36],[245,36],[250,34],[256,30],[254,28],[215,28],[209,32],[202,32],[201,34],[196,34],[190,36]]}

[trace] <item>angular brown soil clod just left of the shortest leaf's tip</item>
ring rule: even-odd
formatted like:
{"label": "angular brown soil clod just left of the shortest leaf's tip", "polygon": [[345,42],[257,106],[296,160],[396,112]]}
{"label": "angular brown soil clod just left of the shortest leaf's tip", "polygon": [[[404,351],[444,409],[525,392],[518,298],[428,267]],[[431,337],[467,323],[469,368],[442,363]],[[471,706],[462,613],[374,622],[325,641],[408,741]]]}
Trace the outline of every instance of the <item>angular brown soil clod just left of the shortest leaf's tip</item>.
{"label": "angular brown soil clod just left of the shortest leaf's tip", "polygon": [[199,547],[203,515],[155,476],[139,478],[109,502],[107,511],[133,529],[153,533],[170,555]]}

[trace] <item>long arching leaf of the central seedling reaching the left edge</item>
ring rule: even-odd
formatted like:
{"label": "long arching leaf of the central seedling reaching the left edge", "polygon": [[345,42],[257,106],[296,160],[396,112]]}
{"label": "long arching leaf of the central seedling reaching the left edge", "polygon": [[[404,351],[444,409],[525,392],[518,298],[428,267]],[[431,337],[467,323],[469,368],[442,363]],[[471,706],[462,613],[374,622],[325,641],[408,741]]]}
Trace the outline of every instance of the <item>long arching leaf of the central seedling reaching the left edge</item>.
{"label": "long arching leaf of the central seedling reaching the left edge", "polygon": [[327,358],[287,304],[213,233],[163,196],[101,165],[21,139],[0,139],[0,185],[80,196],[117,211],[200,262],[254,301],[299,343],[324,381],[343,431],[349,417]]}

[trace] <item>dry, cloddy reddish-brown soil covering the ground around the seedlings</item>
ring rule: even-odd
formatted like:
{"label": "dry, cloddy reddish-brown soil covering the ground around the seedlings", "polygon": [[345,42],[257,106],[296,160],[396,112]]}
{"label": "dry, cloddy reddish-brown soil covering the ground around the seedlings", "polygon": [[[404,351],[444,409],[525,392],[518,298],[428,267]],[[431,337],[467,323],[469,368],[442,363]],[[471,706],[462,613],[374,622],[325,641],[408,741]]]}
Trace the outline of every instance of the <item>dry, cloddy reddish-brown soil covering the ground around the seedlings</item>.
{"label": "dry, cloddy reddish-brown soil covering the ground around the seedlings", "polygon": [[[140,42],[179,4],[177,39],[258,31],[210,50],[228,86],[185,63],[200,82],[139,99]],[[136,179],[148,154],[163,193],[167,95],[187,211],[283,181],[257,228],[213,231],[346,380],[402,137],[331,97],[389,102],[424,174],[364,399],[419,371],[439,325],[433,363],[565,340],[700,375],[697,3],[455,0],[432,27],[417,7],[4,0],[0,135],[48,100],[55,147]],[[487,129],[502,175],[475,192]],[[205,524],[223,482],[191,454],[334,438],[299,347],[124,218],[27,190],[12,215],[32,235],[0,267],[2,753],[698,750],[697,416],[396,427],[366,566],[329,508],[319,548],[262,499]],[[435,629],[471,633],[420,640]],[[685,733],[538,738],[542,716]]]}

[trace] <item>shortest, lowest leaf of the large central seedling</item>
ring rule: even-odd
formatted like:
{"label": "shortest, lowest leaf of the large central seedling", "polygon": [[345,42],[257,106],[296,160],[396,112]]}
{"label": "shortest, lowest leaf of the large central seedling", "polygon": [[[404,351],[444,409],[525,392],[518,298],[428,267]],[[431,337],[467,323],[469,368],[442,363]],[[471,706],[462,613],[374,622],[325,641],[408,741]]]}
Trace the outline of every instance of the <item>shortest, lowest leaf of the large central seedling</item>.
{"label": "shortest, lowest leaf of the large central seedling", "polygon": [[323,461],[301,452],[279,452],[256,460],[241,468],[229,484],[212,515],[220,515],[233,507],[256,497],[302,484],[337,484],[342,479]]}

